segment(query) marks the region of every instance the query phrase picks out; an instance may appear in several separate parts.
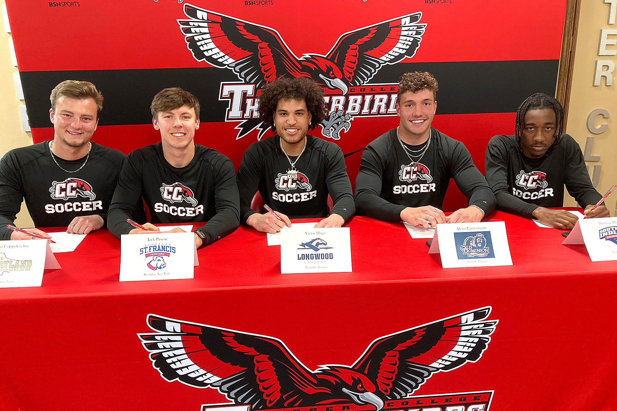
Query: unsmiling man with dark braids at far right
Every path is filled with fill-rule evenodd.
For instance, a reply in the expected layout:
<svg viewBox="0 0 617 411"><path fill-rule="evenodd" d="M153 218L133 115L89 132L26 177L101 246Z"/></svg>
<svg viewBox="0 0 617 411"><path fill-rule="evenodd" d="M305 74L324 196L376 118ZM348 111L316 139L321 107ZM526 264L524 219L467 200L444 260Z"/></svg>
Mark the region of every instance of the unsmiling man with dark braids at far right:
<svg viewBox="0 0 617 411"><path fill-rule="evenodd" d="M556 99L536 93L516 112L516 133L494 136L486 147L486 180L497 207L535 217L556 228L573 228L578 218L563 207L563 186L586 207L587 217L610 217L589 179L581 147L563 133L563 108Z"/></svg>

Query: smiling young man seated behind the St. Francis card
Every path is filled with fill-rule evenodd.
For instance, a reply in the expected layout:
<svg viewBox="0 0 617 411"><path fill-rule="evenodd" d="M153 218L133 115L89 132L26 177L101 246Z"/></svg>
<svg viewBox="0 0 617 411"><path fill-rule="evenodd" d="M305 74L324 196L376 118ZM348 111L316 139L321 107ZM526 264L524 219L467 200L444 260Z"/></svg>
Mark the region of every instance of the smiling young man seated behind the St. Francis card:
<svg viewBox="0 0 617 411"><path fill-rule="evenodd" d="M236 173L230 159L194 143L199 101L188 91L173 87L154 96L150 108L161 142L128 155L110 206L109 231L120 238L159 231L152 223L207 221L194 230L197 247L228 235L238 228L239 221ZM131 212L141 207L142 199L152 222L144 224L147 230L126 222ZM170 232L181 231L175 228Z"/></svg>

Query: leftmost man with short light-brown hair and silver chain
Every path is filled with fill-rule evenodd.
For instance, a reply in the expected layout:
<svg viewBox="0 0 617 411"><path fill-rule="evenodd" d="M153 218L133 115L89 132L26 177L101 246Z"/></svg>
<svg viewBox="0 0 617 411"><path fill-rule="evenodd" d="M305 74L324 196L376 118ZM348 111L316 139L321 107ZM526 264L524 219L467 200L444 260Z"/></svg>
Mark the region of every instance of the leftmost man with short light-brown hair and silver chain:
<svg viewBox="0 0 617 411"><path fill-rule="evenodd" d="M23 199L37 227L88 234L105 224L125 155L90 141L103 97L88 81L66 80L50 100L54 139L11 150L0 161L0 239L31 238L6 228Z"/></svg>

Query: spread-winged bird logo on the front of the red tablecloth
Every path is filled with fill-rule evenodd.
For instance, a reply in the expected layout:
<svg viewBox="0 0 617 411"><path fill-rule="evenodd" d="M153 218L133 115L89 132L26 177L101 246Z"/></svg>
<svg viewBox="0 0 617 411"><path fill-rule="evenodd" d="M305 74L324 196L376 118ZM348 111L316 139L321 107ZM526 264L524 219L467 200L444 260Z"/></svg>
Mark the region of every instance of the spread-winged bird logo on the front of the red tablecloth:
<svg viewBox="0 0 617 411"><path fill-rule="evenodd" d="M400 399L410 401L408 396L433 375L481 358L498 323L482 321L490 312L491 307L483 307L377 336L353 365L322 365L316 370L306 367L283 341L267 335L149 314L146 323L155 332L138 336L162 378L218 389L231 406L246 405L245 411L312 406L339 411L358 405L394 410L402 405ZM467 397L456 400L471 402ZM426 404L421 399L412 401ZM439 403L435 401L431 404ZM478 396L476 401L484 401L486 408L473 410L488 409L489 399Z"/></svg>

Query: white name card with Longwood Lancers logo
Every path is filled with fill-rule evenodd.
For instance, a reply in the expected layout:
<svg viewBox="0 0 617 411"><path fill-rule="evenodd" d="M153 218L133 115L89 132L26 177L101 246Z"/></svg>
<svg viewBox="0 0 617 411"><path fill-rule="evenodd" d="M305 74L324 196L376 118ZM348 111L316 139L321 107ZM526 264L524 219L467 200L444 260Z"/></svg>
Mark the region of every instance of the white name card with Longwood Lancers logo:
<svg viewBox="0 0 617 411"><path fill-rule="evenodd" d="M351 272L349 227L281 230L281 273Z"/></svg>

